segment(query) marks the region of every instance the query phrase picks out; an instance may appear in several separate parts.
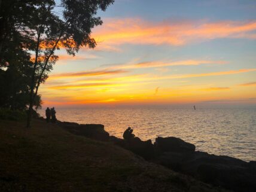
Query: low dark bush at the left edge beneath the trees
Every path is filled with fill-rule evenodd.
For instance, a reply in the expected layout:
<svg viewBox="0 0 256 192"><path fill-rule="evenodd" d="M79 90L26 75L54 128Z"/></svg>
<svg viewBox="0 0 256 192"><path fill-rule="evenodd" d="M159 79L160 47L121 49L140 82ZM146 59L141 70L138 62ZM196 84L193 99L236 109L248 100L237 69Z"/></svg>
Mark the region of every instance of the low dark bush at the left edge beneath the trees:
<svg viewBox="0 0 256 192"><path fill-rule="evenodd" d="M12 120L19 121L27 118L26 111L11 110L8 108L0 108L0 119L1 120Z"/></svg>

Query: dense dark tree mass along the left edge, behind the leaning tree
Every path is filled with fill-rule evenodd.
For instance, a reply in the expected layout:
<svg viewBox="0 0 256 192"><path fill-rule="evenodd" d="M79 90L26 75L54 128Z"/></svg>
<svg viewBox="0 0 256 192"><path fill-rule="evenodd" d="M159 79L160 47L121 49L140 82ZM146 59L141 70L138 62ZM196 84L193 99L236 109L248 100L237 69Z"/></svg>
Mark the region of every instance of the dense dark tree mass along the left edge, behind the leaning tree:
<svg viewBox="0 0 256 192"><path fill-rule="evenodd" d="M29 105L29 82L32 72L29 45L33 41L26 30L29 30L29 20L35 16L36 7L46 1L0 1L1 107L26 109ZM41 97L36 96L35 99L38 102L34 105L38 108Z"/></svg>

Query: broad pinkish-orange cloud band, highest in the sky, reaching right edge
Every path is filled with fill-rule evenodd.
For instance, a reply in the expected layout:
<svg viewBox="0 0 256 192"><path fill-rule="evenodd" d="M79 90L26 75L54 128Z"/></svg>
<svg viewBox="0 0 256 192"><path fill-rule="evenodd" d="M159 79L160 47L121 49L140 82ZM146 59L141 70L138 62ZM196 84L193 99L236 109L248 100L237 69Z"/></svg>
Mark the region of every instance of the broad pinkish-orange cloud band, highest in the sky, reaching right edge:
<svg viewBox="0 0 256 192"><path fill-rule="evenodd" d="M216 38L255 39L256 21L178 21L147 22L142 19L106 19L97 27L93 37L106 46L120 44L170 44L183 45L192 41Z"/></svg>

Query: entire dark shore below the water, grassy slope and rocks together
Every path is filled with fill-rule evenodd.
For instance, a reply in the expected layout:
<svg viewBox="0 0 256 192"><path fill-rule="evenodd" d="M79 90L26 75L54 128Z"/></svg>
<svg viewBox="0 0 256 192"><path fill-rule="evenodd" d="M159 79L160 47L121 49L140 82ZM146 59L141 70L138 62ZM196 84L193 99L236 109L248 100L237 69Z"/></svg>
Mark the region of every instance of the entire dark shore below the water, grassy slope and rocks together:
<svg viewBox="0 0 256 192"><path fill-rule="evenodd" d="M47 123L42 117L34 119L30 129L25 128L21 121L9 120L0 121L0 127L0 163L4 167L0 172L0 189L3 191L20 191L10 188L23 185L25 189L34 185L44 189L23 190L27 192L66 191L46 189L38 184L41 179L44 180L42 184L47 183L50 187L56 185L56 181L60 188L67 184L83 187L83 190L68 191L84 191L84 187L86 191L100 192L139 192L145 191L145 188L150 192L254 192L256 189L256 161L248 163L196 151L195 145L179 138L158 137L154 144L137 137L124 140L109 136L102 124L65 121L53 124ZM148 173L149 167L153 172ZM62 172L65 176L62 176ZM143 176L138 178L138 174ZM150 174L149 178L147 174ZM163 176L166 174L170 176ZM99 190L88 190L89 183L84 182L84 177L92 181L92 176L95 178L92 187ZM130 181L127 178L133 178L132 184L126 185L129 189L116 187L120 179L121 183L127 184ZM103 190L106 184L111 184L111 190ZM173 187L176 190L170 190Z"/></svg>

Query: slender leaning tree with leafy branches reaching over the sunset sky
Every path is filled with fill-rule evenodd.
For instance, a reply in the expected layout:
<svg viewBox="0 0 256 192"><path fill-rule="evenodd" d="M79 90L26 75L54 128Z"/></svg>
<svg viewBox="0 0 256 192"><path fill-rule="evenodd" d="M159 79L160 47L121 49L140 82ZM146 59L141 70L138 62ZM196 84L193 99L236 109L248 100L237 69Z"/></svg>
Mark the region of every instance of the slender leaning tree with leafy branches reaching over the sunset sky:
<svg viewBox="0 0 256 192"><path fill-rule="evenodd" d="M97 10L106 10L114 0L62 0L63 18L53 13L55 3L48 1L38 6L36 17L28 25L27 34L33 39L30 50L35 53L30 85L30 102L27 127L31 125L33 102L41 83L53 68L58 57L55 51L65 48L75 56L81 47L94 48L95 39L91 38L92 28L102 25Z"/></svg>

